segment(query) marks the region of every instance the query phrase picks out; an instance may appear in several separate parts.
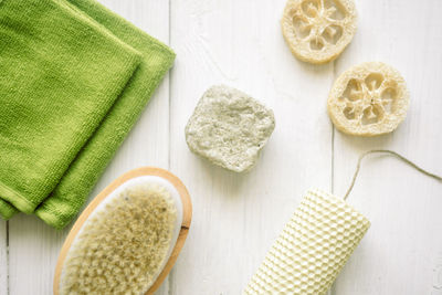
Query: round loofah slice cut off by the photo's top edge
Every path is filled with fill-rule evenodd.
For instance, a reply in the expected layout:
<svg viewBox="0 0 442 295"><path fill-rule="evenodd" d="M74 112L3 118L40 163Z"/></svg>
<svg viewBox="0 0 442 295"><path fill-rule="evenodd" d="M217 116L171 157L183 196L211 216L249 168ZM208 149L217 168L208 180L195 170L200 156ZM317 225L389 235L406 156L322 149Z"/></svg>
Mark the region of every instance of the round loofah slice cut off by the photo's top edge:
<svg viewBox="0 0 442 295"><path fill-rule="evenodd" d="M283 35L299 60L320 64L336 59L356 33L354 0L288 0Z"/></svg>

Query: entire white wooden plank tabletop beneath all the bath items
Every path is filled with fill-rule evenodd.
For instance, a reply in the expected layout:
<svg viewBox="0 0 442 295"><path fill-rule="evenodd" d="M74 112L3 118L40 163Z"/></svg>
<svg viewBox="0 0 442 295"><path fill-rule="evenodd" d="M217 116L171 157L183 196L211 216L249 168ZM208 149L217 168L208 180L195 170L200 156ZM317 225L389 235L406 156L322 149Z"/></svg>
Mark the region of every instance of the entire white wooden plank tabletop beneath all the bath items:
<svg viewBox="0 0 442 295"><path fill-rule="evenodd" d="M171 170L188 187L193 221L158 294L240 294L312 187L341 196L358 155L399 151L442 175L442 1L356 0L358 32L335 62L295 60L281 34L285 0L106 0L177 52L177 61L91 198L139 166ZM391 135L345 136L326 113L347 67L383 61L406 77L411 104ZM201 94L229 84L275 112L276 128L246 175L192 155L185 125ZM442 294L442 185L390 157L362 166L349 202L372 222L332 294ZM51 294L57 232L34 217L0 221L0 294Z"/></svg>

